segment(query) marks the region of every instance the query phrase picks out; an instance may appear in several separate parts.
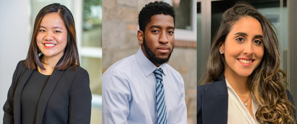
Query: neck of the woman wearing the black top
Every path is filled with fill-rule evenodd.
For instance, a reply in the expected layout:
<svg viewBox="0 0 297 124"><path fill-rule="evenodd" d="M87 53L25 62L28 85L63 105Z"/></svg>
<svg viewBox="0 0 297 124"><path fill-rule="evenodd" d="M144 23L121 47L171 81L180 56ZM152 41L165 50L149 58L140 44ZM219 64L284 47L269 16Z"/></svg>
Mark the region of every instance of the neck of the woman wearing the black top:
<svg viewBox="0 0 297 124"><path fill-rule="evenodd" d="M48 57L44 55L42 57L42 65L45 70L38 68L38 71L44 75L51 75L61 57L62 56Z"/></svg>

